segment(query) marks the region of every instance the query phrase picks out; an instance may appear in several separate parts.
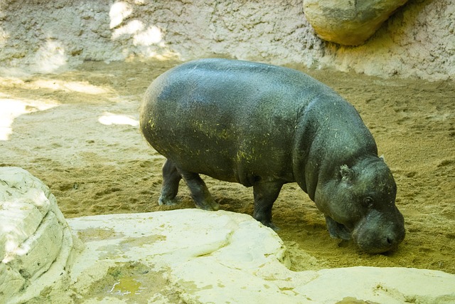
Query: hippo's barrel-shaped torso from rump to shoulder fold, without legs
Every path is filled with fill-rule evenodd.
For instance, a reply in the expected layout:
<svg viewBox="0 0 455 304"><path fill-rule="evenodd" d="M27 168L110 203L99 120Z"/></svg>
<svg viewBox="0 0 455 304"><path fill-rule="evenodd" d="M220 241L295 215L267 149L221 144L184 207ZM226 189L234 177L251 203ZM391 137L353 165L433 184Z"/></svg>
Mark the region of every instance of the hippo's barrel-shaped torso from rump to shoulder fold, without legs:
<svg viewBox="0 0 455 304"><path fill-rule="evenodd" d="M177 167L245 186L294 182L297 125L314 98L342 100L297 70L203 59L168 70L149 86L141 130Z"/></svg>

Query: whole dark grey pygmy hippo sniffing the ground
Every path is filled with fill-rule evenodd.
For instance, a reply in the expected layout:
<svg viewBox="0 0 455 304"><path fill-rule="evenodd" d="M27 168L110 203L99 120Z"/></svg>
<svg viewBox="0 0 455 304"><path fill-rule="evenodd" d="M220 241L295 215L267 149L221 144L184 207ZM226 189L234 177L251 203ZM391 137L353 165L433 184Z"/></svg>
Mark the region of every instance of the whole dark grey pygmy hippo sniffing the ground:
<svg viewBox="0 0 455 304"><path fill-rule="evenodd" d="M297 182L332 237L368 253L405 238L397 187L352 105L297 70L203 59L168 70L146 91L146 140L167 158L159 204L183 179L200 209L218 210L199 174L253 187L253 216L272 228L283 184Z"/></svg>

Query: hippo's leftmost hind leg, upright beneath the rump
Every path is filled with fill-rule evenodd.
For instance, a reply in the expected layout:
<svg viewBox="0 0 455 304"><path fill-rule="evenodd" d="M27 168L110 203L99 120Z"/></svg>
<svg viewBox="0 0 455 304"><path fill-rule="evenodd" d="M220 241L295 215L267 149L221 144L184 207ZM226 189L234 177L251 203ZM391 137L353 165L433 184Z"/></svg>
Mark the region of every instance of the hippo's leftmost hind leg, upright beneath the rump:
<svg viewBox="0 0 455 304"><path fill-rule="evenodd" d="M176 166L169 159L166 159L163 165L163 187L161 188L161 196L159 196L158 204L177 204L178 183L181 179L182 176Z"/></svg>

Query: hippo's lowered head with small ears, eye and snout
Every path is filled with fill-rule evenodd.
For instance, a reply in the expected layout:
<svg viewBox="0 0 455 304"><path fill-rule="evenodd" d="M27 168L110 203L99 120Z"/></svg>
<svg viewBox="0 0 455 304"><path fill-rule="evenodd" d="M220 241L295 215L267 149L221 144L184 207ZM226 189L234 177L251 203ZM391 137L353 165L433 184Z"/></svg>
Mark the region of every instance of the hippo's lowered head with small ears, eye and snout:
<svg viewBox="0 0 455 304"><path fill-rule="evenodd" d="M396 248L405 239L405 221L395 206L397 186L385 162L367 157L352 167L338 167L334 175L318 184L315 195L331 236L352 238L367 253Z"/></svg>

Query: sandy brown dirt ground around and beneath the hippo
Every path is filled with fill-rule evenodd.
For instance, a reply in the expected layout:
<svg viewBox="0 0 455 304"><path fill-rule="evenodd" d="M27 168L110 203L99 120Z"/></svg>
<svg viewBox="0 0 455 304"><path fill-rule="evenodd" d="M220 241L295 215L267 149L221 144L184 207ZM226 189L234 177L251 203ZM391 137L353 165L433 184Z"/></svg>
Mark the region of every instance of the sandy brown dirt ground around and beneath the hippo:
<svg viewBox="0 0 455 304"><path fill-rule="evenodd" d="M87 62L58 75L1 77L0 166L23 167L43 180L67 218L194 208L183 185L181 204L157 204L164 158L137 125L144 91L173 65ZM273 214L292 269L403 266L455 273L455 83L307 73L353 103L373 132L397 182L407 235L392 253L360 253L353 243L331 239L314 203L287 184ZM205 181L221 209L252 214L251 188Z"/></svg>

